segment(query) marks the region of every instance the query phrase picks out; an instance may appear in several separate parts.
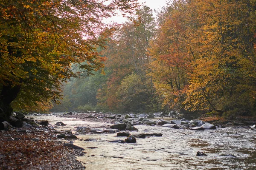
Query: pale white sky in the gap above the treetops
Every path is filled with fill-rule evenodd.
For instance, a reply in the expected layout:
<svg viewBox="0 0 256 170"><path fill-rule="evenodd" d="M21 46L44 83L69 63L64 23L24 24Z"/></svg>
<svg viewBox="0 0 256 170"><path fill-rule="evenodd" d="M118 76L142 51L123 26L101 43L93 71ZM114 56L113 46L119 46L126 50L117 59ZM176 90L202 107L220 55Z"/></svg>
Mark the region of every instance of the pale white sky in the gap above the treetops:
<svg viewBox="0 0 256 170"><path fill-rule="evenodd" d="M166 0L138 0L138 1L139 3L151 8L153 10L154 17L155 17L154 10L158 11L163 6L166 6ZM125 18L122 17L121 14L117 14L116 16L106 20L107 23L111 23L111 22L124 23L125 21L126 21Z"/></svg>

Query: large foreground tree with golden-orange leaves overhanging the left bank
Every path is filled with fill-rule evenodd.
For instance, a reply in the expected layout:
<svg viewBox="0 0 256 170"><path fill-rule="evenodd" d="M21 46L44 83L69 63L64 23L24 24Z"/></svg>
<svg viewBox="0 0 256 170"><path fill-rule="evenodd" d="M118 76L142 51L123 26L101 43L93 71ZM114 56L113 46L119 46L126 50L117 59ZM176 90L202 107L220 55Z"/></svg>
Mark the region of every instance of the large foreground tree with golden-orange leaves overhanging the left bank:
<svg viewBox="0 0 256 170"><path fill-rule="evenodd" d="M111 29L102 18L115 9L132 12L137 5L136 0L108 5L103 0L0 0L0 117L9 117L20 91L30 93L20 98L56 101L61 83L103 67L105 58L96 47Z"/></svg>

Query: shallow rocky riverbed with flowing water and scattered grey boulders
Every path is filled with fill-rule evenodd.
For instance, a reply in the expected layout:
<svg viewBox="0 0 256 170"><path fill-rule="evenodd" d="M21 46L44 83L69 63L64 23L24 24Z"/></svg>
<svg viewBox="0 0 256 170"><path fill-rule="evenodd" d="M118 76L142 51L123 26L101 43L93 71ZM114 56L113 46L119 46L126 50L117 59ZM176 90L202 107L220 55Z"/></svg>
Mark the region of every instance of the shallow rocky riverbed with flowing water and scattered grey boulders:
<svg viewBox="0 0 256 170"><path fill-rule="evenodd" d="M42 143L52 142L49 146L59 144L72 153L69 155L78 156L77 159L84 165L83 168L89 170L256 168L256 130L253 124L218 126L201 120L170 119L161 117L159 113L151 116L95 112L55 113L34 114L26 116L26 119L37 120L35 122L38 124L34 125L33 132L29 132L36 136L23 137L26 142L36 142L32 140L35 139L44 141ZM48 122L41 125L43 121ZM11 128L15 133L18 133L17 130ZM4 136L2 142L19 141L14 138L17 134L0 132L0 135ZM36 143L35 146L41 147ZM8 165L3 159L8 155L6 152L8 151L0 152L0 161L5 164L6 169L12 169L8 166L14 164ZM20 150L16 150L12 155L20 154L19 152ZM40 151L38 154L44 152ZM47 157L48 160L61 158L61 153L54 156L53 153ZM26 169L22 165L33 162L31 158L23 158L24 160L29 160L30 163L23 162L20 164L21 168L14 169ZM65 161L68 164L75 162L71 158ZM63 163L63 159L59 162ZM42 164L41 167L44 166L47 167L47 164ZM83 169L79 166L74 166L74 169ZM52 169L56 169L55 166L52 166Z"/></svg>

